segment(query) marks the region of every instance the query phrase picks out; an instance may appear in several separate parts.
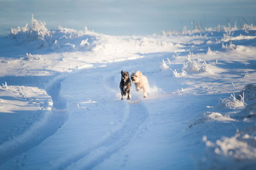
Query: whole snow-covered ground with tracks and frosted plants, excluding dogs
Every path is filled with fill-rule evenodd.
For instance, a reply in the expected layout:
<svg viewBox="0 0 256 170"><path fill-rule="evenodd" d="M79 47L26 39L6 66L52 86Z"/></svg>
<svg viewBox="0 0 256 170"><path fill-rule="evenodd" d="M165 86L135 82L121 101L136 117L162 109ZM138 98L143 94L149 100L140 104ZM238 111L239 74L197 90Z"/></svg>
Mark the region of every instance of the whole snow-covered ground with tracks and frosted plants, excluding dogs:
<svg viewBox="0 0 256 170"><path fill-rule="evenodd" d="M0 37L0 169L254 169L256 27ZM121 100L120 71L148 77ZM2 84L3 83L3 84Z"/></svg>

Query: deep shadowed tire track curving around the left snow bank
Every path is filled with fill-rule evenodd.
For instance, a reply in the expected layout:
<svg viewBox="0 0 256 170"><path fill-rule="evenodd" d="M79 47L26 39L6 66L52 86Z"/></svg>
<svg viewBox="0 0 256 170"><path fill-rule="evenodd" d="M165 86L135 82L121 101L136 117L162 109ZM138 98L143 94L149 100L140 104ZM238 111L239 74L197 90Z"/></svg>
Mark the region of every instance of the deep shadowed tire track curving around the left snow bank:
<svg viewBox="0 0 256 170"><path fill-rule="evenodd" d="M12 159L12 157L39 145L66 122L65 101L59 96L61 81L60 79L55 80L47 91L52 97L54 107L52 111L45 112L44 118L39 122L35 122L28 131L17 136L12 141L6 141L0 145L0 165Z"/></svg>

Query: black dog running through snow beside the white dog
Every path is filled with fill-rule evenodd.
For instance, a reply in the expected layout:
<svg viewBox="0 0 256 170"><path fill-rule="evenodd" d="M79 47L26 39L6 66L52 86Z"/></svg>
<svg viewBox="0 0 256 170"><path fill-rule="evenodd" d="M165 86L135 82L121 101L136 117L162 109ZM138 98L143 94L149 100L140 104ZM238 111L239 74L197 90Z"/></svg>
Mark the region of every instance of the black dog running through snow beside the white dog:
<svg viewBox="0 0 256 170"><path fill-rule="evenodd" d="M121 95L122 99L123 96L126 96L128 94L127 99L130 99L130 89L131 89L131 80L129 78L129 73L127 71L121 71L122 74L122 79L120 81L120 90L121 90Z"/></svg>

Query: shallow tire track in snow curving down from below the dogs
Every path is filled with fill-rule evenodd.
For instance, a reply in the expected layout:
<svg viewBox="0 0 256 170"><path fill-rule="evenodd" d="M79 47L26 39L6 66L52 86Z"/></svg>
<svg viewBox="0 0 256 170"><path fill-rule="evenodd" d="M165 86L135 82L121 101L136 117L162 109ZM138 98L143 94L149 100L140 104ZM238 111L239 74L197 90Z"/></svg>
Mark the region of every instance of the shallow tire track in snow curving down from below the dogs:
<svg viewBox="0 0 256 170"><path fill-rule="evenodd" d="M148 118L148 111L142 103L129 104L129 117L122 129L114 132L97 148L85 155L76 164L70 165L67 169L92 169L105 159L108 159L121 148L128 145L134 138L138 128Z"/></svg>

